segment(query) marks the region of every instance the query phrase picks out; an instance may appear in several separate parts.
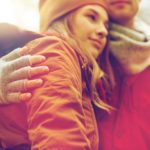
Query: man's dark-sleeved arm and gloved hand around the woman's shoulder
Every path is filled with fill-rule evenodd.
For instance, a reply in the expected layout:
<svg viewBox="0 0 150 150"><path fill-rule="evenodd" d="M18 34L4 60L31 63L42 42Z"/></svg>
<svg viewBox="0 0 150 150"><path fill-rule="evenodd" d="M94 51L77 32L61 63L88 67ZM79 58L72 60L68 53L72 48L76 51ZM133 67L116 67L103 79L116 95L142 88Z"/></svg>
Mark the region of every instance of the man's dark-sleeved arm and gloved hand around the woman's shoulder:
<svg viewBox="0 0 150 150"><path fill-rule="evenodd" d="M23 56L26 48L16 49L41 36L11 24L0 24L0 104L27 100L31 97L31 91L42 85L41 79L30 78L48 72L46 66L34 67L45 57Z"/></svg>

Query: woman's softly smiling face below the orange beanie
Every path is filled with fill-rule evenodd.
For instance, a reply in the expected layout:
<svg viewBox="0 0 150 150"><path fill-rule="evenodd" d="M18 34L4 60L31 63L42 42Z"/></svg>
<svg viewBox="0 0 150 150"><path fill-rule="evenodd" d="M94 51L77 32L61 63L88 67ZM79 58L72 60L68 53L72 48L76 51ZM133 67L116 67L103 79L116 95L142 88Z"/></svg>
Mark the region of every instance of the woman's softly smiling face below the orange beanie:
<svg viewBox="0 0 150 150"><path fill-rule="evenodd" d="M80 44L86 45L97 58L103 51L108 35L108 15L99 5L86 5L73 14L72 32Z"/></svg>

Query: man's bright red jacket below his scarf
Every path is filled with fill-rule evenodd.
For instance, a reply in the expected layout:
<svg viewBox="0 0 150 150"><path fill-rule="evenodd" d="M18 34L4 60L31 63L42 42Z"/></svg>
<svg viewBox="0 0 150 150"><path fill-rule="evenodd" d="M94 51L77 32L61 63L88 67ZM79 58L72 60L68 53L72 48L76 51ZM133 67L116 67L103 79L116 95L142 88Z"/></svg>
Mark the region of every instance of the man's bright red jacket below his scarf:
<svg viewBox="0 0 150 150"><path fill-rule="evenodd" d="M150 68L119 80L110 103L117 110L100 118L96 109L99 150L149 150Z"/></svg>

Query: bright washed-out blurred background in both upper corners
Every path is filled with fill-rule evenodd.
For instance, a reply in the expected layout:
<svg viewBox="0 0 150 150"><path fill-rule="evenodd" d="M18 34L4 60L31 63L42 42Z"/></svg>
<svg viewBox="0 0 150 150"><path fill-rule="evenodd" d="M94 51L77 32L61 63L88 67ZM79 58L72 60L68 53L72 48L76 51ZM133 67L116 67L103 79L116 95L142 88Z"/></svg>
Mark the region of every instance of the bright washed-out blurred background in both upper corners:
<svg viewBox="0 0 150 150"><path fill-rule="evenodd" d="M0 0L0 22L38 31L38 0ZM150 0L141 0L139 16L150 25Z"/></svg>

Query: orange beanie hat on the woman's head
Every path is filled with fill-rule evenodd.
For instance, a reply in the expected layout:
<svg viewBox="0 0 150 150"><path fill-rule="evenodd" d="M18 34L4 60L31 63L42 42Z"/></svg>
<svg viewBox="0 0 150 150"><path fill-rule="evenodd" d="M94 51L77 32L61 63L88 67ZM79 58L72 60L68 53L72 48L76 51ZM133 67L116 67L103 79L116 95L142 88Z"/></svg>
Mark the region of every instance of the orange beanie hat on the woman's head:
<svg viewBox="0 0 150 150"><path fill-rule="evenodd" d="M97 4L106 9L106 0L40 0L40 30L48 29L48 26L59 17L88 4Z"/></svg>

